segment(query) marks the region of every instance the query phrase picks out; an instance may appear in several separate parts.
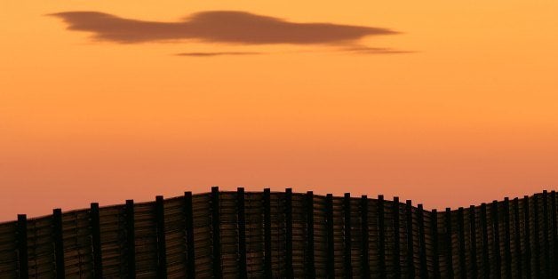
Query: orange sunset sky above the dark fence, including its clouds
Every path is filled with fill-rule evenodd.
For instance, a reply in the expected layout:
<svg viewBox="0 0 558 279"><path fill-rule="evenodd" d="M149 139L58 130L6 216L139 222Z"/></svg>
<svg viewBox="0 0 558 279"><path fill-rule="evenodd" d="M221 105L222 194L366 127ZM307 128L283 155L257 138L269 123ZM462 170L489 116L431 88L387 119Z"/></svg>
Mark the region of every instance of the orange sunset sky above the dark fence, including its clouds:
<svg viewBox="0 0 558 279"><path fill-rule="evenodd" d="M0 220L184 191L558 189L555 1L2 1Z"/></svg>

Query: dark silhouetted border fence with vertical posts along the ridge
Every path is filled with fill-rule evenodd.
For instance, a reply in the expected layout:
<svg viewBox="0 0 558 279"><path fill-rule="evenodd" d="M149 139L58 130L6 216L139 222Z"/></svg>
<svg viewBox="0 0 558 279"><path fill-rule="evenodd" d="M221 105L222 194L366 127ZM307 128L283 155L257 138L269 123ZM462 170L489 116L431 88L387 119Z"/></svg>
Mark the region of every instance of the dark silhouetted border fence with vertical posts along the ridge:
<svg viewBox="0 0 558 279"><path fill-rule="evenodd" d="M558 278L555 191L421 204L219 192L0 224L2 278Z"/></svg>

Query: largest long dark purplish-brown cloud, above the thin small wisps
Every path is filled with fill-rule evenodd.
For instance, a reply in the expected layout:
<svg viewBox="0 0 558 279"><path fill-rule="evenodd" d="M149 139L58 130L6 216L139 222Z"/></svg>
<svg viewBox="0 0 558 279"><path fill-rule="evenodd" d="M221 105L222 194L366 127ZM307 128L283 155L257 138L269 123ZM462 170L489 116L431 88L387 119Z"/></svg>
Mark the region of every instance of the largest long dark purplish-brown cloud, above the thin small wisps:
<svg viewBox="0 0 558 279"><path fill-rule="evenodd" d="M68 29L123 44L195 39L229 44L351 44L364 36L393 35L387 28L296 23L249 12L198 12L178 22L130 20L102 12L53 13Z"/></svg>

